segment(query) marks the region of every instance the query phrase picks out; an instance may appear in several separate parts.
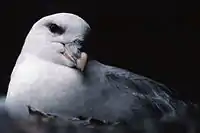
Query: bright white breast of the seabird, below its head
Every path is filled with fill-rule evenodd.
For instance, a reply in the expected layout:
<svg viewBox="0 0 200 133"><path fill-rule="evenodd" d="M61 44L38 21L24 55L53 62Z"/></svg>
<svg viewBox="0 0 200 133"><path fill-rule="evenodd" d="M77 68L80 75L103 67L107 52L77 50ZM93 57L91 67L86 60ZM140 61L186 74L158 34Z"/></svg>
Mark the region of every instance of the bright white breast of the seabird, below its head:
<svg viewBox="0 0 200 133"><path fill-rule="evenodd" d="M26 105L48 111L62 104L68 106L84 89L82 79L75 69L26 55L15 67L6 105L20 111Z"/></svg>

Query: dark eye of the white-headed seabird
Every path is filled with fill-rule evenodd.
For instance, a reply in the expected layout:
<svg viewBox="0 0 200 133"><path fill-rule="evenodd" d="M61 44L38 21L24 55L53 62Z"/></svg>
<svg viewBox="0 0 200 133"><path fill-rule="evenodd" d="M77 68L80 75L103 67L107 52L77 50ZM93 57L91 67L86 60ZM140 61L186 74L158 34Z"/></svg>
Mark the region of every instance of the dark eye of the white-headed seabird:
<svg viewBox="0 0 200 133"><path fill-rule="evenodd" d="M47 27L54 34L61 35L61 34L63 34L65 32L65 30L61 26L58 26L57 24L54 24L54 23L49 23L47 25Z"/></svg>

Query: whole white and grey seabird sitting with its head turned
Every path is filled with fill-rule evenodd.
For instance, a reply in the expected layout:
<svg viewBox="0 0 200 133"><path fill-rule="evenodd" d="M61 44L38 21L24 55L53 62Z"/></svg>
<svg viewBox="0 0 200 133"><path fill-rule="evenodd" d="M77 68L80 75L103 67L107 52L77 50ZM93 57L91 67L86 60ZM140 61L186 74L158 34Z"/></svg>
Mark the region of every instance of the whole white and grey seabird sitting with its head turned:
<svg viewBox="0 0 200 133"><path fill-rule="evenodd" d="M65 119L134 123L140 129L144 118L166 121L184 114L188 105L164 84L81 51L90 31L72 13L51 14L32 26L10 77L10 116L27 119L32 107Z"/></svg>

